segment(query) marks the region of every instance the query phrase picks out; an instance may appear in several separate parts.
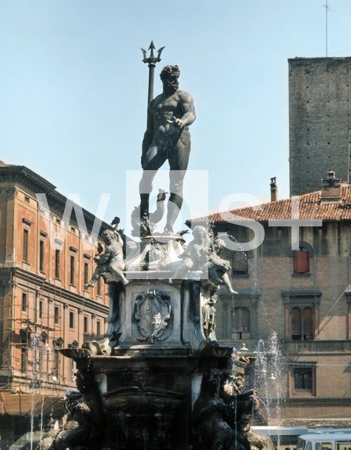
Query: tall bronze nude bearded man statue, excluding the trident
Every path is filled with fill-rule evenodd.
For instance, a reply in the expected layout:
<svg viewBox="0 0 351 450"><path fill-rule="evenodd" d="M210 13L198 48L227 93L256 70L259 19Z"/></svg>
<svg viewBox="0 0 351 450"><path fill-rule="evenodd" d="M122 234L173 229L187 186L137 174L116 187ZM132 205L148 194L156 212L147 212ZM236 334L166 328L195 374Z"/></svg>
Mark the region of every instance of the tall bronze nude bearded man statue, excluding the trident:
<svg viewBox="0 0 351 450"><path fill-rule="evenodd" d="M173 224L183 205L183 181L190 155L189 126L195 120L192 96L178 90L178 65L166 65L161 71L162 94L147 108L147 130L143 140L140 181L140 217L149 217L149 198L157 170L168 160L171 196L167 205L165 233L173 233Z"/></svg>

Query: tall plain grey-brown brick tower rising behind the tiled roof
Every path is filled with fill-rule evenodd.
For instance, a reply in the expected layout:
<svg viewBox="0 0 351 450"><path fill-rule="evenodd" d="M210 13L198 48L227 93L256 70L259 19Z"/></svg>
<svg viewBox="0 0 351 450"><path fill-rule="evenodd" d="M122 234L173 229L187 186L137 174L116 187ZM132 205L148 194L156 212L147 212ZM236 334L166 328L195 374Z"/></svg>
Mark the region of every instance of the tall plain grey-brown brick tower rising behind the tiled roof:
<svg viewBox="0 0 351 450"><path fill-rule="evenodd" d="M290 193L350 174L351 58L289 59Z"/></svg>

